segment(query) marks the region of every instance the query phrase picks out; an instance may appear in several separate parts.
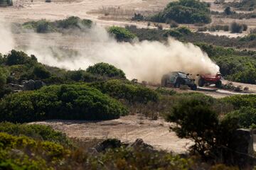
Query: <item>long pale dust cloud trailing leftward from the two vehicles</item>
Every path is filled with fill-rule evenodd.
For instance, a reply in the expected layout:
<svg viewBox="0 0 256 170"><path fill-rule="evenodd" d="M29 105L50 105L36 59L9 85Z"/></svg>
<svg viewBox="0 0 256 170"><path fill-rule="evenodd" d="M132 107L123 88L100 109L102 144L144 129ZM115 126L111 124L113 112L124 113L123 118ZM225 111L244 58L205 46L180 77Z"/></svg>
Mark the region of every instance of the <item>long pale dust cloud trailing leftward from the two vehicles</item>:
<svg viewBox="0 0 256 170"><path fill-rule="evenodd" d="M6 35L8 39L9 34ZM128 79L154 83L159 83L163 74L172 71L190 74L219 71L208 55L191 43L184 44L172 38L165 44L146 40L117 42L105 28L96 25L84 32L31 33L26 38L27 47L21 50L36 55L43 64L65 69L86 69L97 62L107 62L122 69ZM11 46L12 41L9 41ZM6 52L1 48L0 51Z"/></svg>

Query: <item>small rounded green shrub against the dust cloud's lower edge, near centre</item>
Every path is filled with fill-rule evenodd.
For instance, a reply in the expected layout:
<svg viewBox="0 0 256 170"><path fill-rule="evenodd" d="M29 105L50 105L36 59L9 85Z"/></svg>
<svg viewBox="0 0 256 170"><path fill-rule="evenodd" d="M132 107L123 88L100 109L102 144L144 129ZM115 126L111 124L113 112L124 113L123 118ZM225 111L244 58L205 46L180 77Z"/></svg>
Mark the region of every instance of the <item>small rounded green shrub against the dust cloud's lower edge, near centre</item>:
<svg viewBox="0 0 256 170"><path fill-rule="evenodd" d="M91 74L99 74L102 77L115 77L126 79L124 72L121 69L117 69L111 64L104 62L94 64L86 69L86 72Z"/></svg>

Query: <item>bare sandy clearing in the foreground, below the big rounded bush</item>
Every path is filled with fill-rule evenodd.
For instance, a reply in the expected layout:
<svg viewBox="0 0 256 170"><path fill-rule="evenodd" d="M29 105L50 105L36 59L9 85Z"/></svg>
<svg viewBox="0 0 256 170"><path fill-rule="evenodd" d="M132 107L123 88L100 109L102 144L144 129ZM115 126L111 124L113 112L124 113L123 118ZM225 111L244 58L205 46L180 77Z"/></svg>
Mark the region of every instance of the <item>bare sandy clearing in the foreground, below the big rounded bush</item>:
<svg viewBox="0 0 256 170"><path fill-rule="evenodd" d="M193 144L191 140L180 139L175 132L170 132L171 123L166 123L162 119L148 120L142 115L128 115L100 122L49 120L37 124L50 125L55 130L80 140L117 138L122 142L134 142L137 138L142 138L156 149L176 153L186 152Z"/></svg>

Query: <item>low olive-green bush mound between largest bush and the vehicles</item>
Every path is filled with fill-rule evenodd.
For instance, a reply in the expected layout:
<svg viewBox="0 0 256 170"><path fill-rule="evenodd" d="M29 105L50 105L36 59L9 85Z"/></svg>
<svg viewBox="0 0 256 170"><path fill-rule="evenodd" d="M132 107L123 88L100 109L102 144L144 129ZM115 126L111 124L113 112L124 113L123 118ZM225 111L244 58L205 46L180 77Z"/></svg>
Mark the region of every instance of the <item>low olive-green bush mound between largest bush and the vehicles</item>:
<svg viewBox="0 0 256 170"><path fill-rule="evenodd" d="M157 93L151 89L117 79L93 83L90 86L99 89L104 94L118 99L122 98L132 103L148 103L159 99Z"/></svg>

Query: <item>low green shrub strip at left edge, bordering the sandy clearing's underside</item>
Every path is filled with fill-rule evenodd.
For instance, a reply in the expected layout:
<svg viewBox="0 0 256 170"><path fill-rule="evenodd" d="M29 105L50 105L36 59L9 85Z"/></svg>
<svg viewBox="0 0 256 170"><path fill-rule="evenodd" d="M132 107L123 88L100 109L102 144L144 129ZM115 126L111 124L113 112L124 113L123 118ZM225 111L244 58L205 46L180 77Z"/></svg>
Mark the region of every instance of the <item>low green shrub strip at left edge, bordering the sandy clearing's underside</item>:
<svg viewBox="0 0 256 170"><path fill-rule="evenodd" d="M0 132L6 132L9 135L25 135L35 140L48 140L59 143L65 147L73 146L68 137L62 132L57 132L46 125L27 125L14 123L0 123Z"/></svg>

